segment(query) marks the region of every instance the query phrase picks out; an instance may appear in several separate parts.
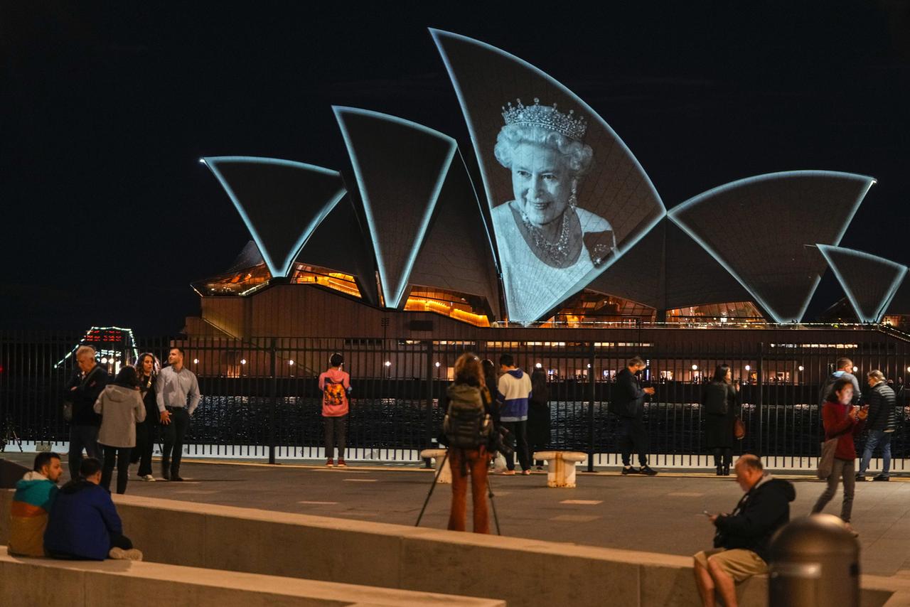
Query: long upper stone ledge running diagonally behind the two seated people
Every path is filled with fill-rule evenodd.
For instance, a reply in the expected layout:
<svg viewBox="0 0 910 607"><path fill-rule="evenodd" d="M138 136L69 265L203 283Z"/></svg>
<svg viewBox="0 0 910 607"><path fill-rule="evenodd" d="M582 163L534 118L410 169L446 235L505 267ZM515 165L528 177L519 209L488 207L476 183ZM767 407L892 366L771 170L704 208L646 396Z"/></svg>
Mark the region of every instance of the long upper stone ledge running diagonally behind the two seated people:
<svg viewBox="0 0 910 607"><path fill-rule="evenodd" d="M0 491L0 543L8 537L12 495ZM126 533L147 561L494 597L523 607L700 604L690 556L129 494L115 495L114 501ZM894 583L863 576L864 607L910 604L895 602ZM742 607L765 607L767 578L748 580L737 593Z"/></svg>

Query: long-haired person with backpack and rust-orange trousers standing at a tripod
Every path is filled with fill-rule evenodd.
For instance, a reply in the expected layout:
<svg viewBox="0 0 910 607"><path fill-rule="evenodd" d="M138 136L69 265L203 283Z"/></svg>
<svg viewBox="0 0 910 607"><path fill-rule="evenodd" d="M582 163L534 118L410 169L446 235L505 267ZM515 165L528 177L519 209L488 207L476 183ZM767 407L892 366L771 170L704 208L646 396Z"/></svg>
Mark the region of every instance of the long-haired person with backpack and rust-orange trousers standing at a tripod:
<svg viewBox="0 0 910 607"><path fill-rule="evenodd" d="M480 360L470 352L455 361L455 379L446 389L446 417L442 430L449 442L452 474L450 531L466 531L468 475L474 504L474 532L490 532L487 510L487 470L495 441L493 400L486 387Z"/></svg>

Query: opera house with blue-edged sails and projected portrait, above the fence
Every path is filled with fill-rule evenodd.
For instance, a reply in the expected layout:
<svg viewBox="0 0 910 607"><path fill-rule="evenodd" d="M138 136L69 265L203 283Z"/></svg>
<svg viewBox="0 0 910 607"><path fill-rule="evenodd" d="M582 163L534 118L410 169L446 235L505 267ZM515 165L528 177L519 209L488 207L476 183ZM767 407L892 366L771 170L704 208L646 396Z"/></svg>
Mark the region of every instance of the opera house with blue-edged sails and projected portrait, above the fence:
<svg viewBox="0 0 910 607"><path fill-rule="evenodd" d="M632 150L571 90L498 48L430 34L470 142L336 106L349 167L200 160L251 240L230 268L194 283L202 312L188 335L767 329L814 320L806 309L828 271L845 296L830 320L910 315L905 266L840 247L874 177L744 177L668 209Z"/></svg>

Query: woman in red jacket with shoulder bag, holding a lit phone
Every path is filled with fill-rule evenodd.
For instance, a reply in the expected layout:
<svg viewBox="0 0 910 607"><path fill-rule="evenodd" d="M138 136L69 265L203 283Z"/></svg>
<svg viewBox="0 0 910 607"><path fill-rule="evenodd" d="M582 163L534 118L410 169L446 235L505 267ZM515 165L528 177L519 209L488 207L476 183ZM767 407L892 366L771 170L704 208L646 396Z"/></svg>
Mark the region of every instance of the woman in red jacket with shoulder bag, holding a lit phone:
<svg viewBox="0 0 910 607"><path fill-rule="evenodd" d="M850 404L853 401L853 381L851 379L838 379L831 387L831 392L822 405L822 423L824 423L824 439L837 438L837 449L834 450L834 467L828 477L828 488L824 490L812 509L812 513L821 512L824 506L831 501L837 491L837 483L844 479L844 502L841 505L841 519L850 526L850 511L853 510L853 495L855 478L856 448L854 436L863 429L869 406L862 409Z"/></svg>

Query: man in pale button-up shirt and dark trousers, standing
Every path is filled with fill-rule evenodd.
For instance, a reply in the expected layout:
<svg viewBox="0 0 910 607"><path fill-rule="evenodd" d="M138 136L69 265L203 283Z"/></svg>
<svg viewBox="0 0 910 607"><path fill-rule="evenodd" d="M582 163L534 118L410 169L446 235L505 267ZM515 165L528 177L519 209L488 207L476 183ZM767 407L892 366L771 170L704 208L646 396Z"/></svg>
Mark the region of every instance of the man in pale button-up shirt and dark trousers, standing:
<svg viewBox="0 0 910 607"><path fill-rule="evenodd" d="M168 366L161 369L155 382L158 419L165 435L165 450L161 454L161 476L165 481L183 481L180 478L183 441L193 411L202 399L196 373L183 366L183 357L183 349L171 348L167 354Z"/></svg>

